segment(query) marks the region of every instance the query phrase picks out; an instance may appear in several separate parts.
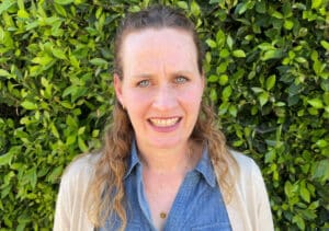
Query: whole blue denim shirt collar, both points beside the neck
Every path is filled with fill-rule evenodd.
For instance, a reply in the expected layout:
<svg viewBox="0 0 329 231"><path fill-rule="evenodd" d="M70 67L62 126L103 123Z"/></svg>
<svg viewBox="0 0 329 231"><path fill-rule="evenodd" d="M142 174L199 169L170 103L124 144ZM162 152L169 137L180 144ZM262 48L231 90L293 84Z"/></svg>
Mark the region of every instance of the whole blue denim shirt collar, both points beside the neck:
<svg viewBox="0 0 329 231"><path fill-rule="evenodd" d="M131 158L128 160L128 168L127 168L127 172L126 172L124 178L128 177L132 174L134 168L137 164L140 164L140 161L138 158L136 141L133 140L132 147L131 147ZM207 184L209 186L212 186L212 187L216 186L216 175L215 175L213 164L212 164L212 161L209 158L207 146L204 147L204 149L202 151L202 157L198 160L194 170L200 172L203 175L203 177L205 178L205 181L207 182Z"/></svg>

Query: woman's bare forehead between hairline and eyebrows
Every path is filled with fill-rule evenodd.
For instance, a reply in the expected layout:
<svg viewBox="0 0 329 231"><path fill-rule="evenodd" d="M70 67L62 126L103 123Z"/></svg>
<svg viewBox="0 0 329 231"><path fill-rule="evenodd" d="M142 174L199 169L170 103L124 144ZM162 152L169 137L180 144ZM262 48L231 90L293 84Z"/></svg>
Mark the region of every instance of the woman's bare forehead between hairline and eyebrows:
<svg viewBox="0 0 329 231"><path fill-rule="evenodd" d="M196 46L192 34L178 28L146 28L132 32L122 45L124 69L166 62L170 67L195 66ZM183 67L182 67L183 68Z"/></svg>

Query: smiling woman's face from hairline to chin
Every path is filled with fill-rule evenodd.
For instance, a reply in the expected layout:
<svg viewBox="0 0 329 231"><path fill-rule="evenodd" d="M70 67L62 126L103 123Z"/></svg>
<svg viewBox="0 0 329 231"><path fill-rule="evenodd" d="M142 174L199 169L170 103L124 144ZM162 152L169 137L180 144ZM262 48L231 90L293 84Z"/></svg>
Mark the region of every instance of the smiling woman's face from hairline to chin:
<svg viewBox="0 0 329 231"><path fill-rule="evenodd" d="M123 79L116 96L126 108L139 148L185 146L204 89L191 34L175 28L129 33L122 45Z"/></svg>

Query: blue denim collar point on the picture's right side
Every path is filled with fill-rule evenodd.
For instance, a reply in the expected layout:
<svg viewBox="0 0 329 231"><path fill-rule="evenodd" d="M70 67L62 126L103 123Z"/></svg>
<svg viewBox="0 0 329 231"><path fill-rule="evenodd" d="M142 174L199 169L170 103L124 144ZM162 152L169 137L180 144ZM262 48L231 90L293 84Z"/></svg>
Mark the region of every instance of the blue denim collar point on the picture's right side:
<svg viewBox="0 0 329 231"><path fill-rule="evenodd" d="M207 146L202 151L202 157L195 166L195 171L200 172L211 187L216 186L216 175L209 158Z"/></svg>

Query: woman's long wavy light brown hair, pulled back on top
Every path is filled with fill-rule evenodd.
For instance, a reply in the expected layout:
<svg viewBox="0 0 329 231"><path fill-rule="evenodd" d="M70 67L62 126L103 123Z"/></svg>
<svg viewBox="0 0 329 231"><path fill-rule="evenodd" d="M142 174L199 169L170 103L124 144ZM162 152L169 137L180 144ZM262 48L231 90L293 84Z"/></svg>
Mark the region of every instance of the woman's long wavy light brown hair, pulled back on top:
<svg viewBox="0 0 329 231"><path fill-rule="evenodd" d="M194 24L183 13L162 5L128 14L122 21L115 37L114 73L121 79L124 78L121 48L125 36L146 28L163 27L182 30L191 34L197 50L198 71L203 73L204 54ZM94 175L88 193L88 216L97 228L104 226L106 218L112 215L121 219L121 230L126 227L124 175L133 139L134 129L128 115L116 101L112 124L104 136L101 157L94 165ZM228 203L235 183L234 173L238 171L238 165L226 147L224 135L216 126L213 109L204 100L191 140L207 145L218 185Z"/></svg>

